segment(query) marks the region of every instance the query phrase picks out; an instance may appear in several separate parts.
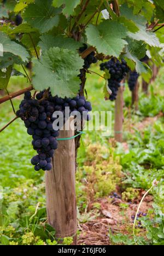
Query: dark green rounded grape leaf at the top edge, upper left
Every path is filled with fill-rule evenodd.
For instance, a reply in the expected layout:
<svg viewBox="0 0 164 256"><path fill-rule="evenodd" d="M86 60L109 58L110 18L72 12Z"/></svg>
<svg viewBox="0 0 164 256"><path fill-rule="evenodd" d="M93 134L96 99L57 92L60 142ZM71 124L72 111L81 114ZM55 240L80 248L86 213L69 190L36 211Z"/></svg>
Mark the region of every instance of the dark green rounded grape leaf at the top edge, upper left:
<svg viewBox="0 0 164 256"><path fill-rule="evenodd" d="M52 7L52 0L36 0L28 5L22 16L27 23L42 33L58 26L58 9Z"/></svg>

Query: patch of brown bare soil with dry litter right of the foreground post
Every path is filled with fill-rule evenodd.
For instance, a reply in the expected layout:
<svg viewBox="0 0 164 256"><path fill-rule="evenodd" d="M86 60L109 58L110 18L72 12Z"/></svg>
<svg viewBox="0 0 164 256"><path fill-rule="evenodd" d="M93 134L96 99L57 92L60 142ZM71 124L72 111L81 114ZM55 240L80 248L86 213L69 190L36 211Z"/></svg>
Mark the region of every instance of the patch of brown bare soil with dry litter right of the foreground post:
<svg viewBox="0 0 164 256"><path fill-rule="evenodd" d="M132 216L136 214L138 204L145 191L141 191L137 202L123 202L121 199L114 198L112 202L109 199L99 199L101 203L101 214L95 220L79 224L81 230L78 245L111 245L109 230L113 233L122 233L132 235L133 220ZM121 203L128 204L128 208L122 209ZM147 213L152 208L153 196L148 195L140 212ZM140 228L144 233L144 230Z"/></svg>

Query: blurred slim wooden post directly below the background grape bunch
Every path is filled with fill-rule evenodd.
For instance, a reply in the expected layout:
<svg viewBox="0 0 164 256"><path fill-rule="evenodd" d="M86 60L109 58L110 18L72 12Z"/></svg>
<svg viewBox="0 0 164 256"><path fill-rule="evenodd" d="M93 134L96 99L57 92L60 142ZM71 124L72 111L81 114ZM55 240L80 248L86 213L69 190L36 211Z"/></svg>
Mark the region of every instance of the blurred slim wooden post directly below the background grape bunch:
<svg viewBox="0 0 164 256"><path fill-rule="evenodd" d="M115 140L118 142L122 142L122 126L124 121L124 98L123 98L124 86L120 86L118 91L118 96L115 101L115 124L114 124L114 132L115 132Z"/></svg>

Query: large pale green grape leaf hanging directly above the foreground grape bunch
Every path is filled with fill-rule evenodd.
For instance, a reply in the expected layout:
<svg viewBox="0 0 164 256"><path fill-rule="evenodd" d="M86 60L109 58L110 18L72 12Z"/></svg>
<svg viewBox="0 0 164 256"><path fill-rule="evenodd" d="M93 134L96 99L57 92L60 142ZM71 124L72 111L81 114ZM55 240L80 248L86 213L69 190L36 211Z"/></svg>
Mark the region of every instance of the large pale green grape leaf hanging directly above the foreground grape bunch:
<svg viewBox="0 0 164 256"><path fill-rule="evenodd" d="M78 53L58 47L50 48L34 60L33 86L36 90L50 88L52 95L72 97L79 91L79 70L83 68L84 60Z"/></svg>

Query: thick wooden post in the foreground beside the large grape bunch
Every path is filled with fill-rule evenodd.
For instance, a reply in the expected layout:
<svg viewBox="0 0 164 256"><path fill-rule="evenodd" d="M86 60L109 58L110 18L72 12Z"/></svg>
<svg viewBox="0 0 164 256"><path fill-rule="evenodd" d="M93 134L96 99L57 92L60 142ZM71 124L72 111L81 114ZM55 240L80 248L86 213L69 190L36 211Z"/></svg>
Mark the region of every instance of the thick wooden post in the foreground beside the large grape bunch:
<svg viewBox="0 0 164 256"><path fill-rule="evenodd" d="M60 131L59 138L70 138L74 131ZM46 211L56 238L73 236L77 245L77 207L75 197L74 139L58 141L53 168L45 173Z"/></svg>

